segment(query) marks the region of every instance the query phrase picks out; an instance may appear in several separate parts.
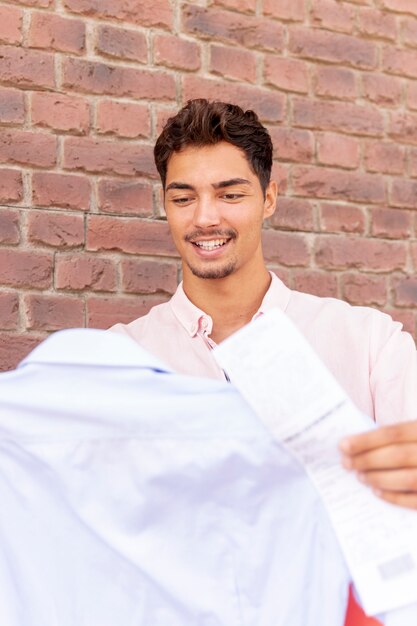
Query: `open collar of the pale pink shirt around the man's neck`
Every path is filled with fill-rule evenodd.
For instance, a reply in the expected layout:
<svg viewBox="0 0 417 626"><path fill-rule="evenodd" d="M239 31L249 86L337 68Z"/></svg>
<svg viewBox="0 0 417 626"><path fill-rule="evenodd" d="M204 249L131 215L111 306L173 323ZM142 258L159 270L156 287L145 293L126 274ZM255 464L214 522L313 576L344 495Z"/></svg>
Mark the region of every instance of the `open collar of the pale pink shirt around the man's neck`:
<svg viewBox="0 0 417 626"><path fill-rule="evenodd" d="M280 308L285 311L290 299L291 291L284 285L276 274L270 272L271 284L262 300L259 310L254 319L270 309ZM210 335L213 328L213 320L210 315L193 304L185 294L182 282L170 301L172 311L177 320L182 324L190 337L194 337L199 331Z"/></svg>

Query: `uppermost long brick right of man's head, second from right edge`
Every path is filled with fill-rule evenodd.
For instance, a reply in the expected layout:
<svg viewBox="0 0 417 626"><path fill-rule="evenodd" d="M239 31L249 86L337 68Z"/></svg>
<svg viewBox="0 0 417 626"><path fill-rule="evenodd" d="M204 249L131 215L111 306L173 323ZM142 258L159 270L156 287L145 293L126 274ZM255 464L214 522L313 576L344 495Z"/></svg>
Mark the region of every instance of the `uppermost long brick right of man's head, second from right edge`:
<svg viewBox="0 0 417 626"><path fill-rule="evenodd" d="M289 30L289 49L293 54L362 69L374 69L377 66L377 47L371 41L299 26L290 27Z"/></svg>

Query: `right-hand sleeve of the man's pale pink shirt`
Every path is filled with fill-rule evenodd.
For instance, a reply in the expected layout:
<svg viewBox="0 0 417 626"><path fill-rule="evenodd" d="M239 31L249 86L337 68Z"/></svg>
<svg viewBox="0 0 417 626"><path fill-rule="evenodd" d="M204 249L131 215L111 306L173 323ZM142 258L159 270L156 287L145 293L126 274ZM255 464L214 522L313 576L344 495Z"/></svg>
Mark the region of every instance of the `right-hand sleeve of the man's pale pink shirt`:
<svg viewBox="0 0 417 626"><path fill-rule="evenodd" d="M391 424L417 419L417 350L413 338L388 315L373 321L370 385L375 420Z"/></svg>

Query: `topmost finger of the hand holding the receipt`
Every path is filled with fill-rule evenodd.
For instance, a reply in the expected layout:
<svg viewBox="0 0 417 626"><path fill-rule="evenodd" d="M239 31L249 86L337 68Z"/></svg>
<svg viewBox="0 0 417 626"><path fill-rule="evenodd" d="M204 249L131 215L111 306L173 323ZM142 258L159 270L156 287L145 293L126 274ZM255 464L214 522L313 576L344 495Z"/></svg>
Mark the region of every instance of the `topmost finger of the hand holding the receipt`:
<svg viewBox="0 0 417 626"><path fill-rule="evenodd" d="M340 449L343 453L354 456L393 443L410 441L417 443L417 421L382 426L366 433L346 437L340 442Z"/></svg>

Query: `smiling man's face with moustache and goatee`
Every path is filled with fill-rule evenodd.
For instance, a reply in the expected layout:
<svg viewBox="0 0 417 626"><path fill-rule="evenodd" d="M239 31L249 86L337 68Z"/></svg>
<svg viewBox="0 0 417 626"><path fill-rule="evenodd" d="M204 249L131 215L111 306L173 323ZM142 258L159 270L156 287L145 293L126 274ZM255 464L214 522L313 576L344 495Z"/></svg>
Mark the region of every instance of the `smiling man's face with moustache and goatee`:
<svg viewBox="0 0 417 626"><path fill-rule="evenodd" d="M174 153L167 169L165 210L188 271L225 278L262 261L263 220L275 209L276 186L264 198L259 179L236 146L220 142Z"/></svg>

